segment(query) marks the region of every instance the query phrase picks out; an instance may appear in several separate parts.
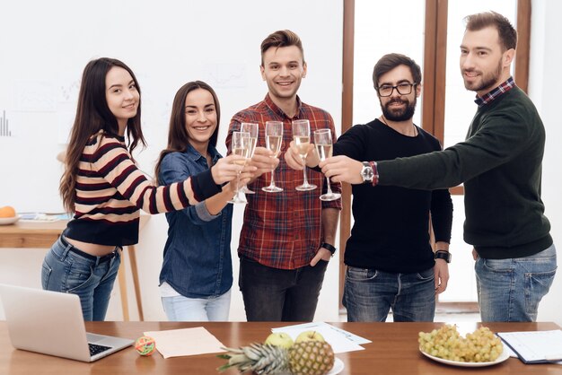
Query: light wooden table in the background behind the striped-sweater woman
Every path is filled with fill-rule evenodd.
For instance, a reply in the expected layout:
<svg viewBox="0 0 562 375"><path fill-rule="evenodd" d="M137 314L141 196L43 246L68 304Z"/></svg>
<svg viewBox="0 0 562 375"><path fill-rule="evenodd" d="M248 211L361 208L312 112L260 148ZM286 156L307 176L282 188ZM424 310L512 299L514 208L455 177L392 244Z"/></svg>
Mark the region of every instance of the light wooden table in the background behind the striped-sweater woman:
<svg viewBox="0 0 562 375"><path fill-rule="evenodd" d="M141 214L139 228L142 229L150 215ZM58 239L60 233L65 230L66 220L57 222L15 222L12 225L0 225L0 249L50 249L53 243ZM140 230L139 229L139 230ZM127 246L127 251L123 252L123 256L127 253L131 266L131 275L133 276L133 286L136 294L136 309L138 311L139 320L144 320L143 305L141 300L140 286L138 283L138 271L136 267L136 249L134 246ZM125 274L125 264L122 261L119 269L119 291L121 294L121 309L123 310L123 319L129 319L128 299L127 299L127 281Z"/></svg>

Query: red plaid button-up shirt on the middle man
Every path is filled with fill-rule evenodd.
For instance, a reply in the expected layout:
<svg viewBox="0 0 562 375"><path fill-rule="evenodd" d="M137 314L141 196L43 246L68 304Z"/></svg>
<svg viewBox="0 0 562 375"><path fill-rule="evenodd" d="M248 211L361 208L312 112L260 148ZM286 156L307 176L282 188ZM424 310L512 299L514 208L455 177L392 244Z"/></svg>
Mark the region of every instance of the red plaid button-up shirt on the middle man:
<svg viewBox="0 0 562 375"><path fill-rule="evenodd" d="M242 122L259 124L258 146L265 147L266 121L283 121L283 144L279 154L279 166L275 170L275 182L283 191L267 193L261 188L271 181L271 173L264 173L249 185L256 194L246 196L248 205L244 211L244 222L240 235L238 254L249 257L259 264L281 269L295 269L307 266L321 247L321 210L322 208L341 209L341 199L322 202L321 192L326 179L317 171L307 169L310 183L318 186L310 191L297 191L295 188L303 183L303 171L293 170L283 158L287 147L293 140L292 121L308 119L312 132L329 128L336 142L334 120L328 112L304 104L298 97L298 112L294 118L285 113L266 95L266 99L234 115L226 147L230 153L230 144L234 131L240 130ZM340 192L339 184L331 184L334 192Z"/></svg>

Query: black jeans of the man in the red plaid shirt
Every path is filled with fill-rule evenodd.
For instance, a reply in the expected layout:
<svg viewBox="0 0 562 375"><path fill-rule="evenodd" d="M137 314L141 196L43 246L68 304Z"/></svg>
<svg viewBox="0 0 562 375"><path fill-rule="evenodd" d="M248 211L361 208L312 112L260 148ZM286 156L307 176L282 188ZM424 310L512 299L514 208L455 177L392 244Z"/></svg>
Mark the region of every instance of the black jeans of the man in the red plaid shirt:
<svg viewBox="0 0 562 375"><path fill-rule="evenodd" d="M248 321L304 321L314 318L328 262L297 269L262 266L241 257L238 284Z"/></svg>

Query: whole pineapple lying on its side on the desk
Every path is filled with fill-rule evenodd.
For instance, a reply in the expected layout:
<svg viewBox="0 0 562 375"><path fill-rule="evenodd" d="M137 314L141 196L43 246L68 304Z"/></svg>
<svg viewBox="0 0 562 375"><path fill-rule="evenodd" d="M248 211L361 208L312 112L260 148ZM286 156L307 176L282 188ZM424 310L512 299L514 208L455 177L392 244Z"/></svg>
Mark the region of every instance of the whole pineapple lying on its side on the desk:
<svg viewBox="0 0 562 375"><path fill-rule="evenodd" d="M250 344L239 349L224 348L228 353L218 355L228 360L219 367L224 371L236 367L240 372L254 371L259 375L291 371L299 375L324 375L334 366L334 351L328 343L306 341L294 344L290 349L269 344Z"/></svg>

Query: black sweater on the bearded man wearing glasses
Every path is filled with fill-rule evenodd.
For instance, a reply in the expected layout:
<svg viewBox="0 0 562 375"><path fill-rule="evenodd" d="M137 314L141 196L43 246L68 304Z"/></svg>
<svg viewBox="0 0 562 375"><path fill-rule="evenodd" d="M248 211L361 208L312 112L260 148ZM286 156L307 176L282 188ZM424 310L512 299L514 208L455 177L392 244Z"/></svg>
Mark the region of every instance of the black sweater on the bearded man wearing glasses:
<svg viewBox="0 0 562 375"><path fill-rule="evenodd" d="M392 160L441 150L439 141L423 129L401 135L375 119L356 125L334 144L334 155L357 161ZM452 200L447 189L353 186L354 224L347 240L347 266L376 268L393 273L423 271L435 265L429 244L431 212L435 240L449 242Z"/></svg>

